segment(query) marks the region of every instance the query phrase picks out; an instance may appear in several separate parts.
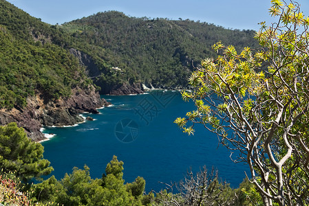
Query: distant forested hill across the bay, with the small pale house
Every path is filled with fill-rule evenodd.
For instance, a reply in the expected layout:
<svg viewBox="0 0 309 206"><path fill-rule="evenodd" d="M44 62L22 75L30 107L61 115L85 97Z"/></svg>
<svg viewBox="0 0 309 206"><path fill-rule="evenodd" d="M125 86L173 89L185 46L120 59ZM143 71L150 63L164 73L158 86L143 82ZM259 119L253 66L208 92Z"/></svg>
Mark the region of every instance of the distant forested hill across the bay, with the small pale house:
<svg viewBox="0 0 309 206"><path fill-rule="evenodd" d="M143 82L154 87L186 87L193 66L216 56L211 45L222 41L238 50L257 47L254 31L226 30L209 23L128 17L99 12L59 26L69 45L92 56L102 72L95 82L105 87ZM115 72L112 67L119 67ZM104 93L104 92L103 92Z"/></svg>

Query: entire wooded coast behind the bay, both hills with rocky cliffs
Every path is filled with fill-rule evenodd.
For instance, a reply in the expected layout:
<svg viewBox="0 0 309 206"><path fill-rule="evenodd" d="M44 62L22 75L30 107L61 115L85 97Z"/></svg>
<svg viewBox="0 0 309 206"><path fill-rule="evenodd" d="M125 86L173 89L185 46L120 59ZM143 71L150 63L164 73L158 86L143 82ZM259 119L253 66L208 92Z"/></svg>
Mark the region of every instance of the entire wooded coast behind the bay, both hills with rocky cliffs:
<svg viewBox="0 0 309 206"><path fill-rule="evenodd" d="M257 47L254 33L115 11L49 25L0 0L0 124L18 122L38 141L41 126L76 124L106 105L97 91L186 88L202 58L216 56L211 45Z"/></svg>

